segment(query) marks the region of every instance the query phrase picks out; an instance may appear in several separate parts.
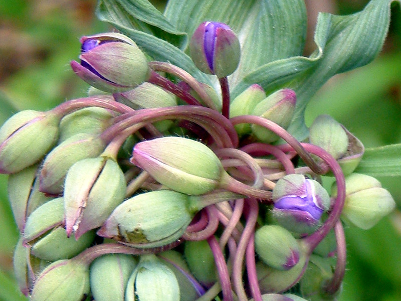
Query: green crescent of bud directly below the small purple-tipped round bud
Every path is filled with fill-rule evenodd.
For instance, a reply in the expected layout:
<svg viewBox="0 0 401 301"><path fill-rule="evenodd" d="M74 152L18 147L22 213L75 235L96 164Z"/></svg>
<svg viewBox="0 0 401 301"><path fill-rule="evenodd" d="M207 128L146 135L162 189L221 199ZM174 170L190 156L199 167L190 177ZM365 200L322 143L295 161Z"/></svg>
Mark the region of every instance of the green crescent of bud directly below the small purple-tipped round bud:
<svg viewBox="0 0 401 301"><path fill-rule="evenodd" d="M301 252L298 263L289 270L278 270L264 264L262 261L256 263L259 286L262 293L283 292L294 286L306 267L306 254Z"/></svg>

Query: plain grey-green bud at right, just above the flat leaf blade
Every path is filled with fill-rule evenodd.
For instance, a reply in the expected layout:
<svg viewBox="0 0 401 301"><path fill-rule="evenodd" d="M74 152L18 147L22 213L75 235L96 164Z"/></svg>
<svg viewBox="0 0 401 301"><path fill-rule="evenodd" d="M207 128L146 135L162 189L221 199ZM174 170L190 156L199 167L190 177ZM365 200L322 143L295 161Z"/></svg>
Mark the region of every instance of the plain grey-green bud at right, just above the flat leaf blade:
<svg viewBox="0 0 401 301"><path fill-rule="evenodd" d="M313 121L309 128L309 140L326 150L334 159L343 157L348 147L347 133L341 124L329 115L320 115Z"/></svg>

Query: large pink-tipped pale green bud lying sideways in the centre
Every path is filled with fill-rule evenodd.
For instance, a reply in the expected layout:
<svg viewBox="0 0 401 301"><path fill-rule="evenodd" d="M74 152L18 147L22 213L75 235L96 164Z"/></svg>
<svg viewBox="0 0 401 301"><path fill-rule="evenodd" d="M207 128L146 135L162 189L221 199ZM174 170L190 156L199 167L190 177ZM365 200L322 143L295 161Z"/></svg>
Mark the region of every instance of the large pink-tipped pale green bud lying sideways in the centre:
<svg viewBox="0 0 401 301"><path fill-rule="evenodd" d="M189 195L214 190L223 173L223 166L212 149L183 137L139 142L134 146L131 162L160 184Z"/></svg>

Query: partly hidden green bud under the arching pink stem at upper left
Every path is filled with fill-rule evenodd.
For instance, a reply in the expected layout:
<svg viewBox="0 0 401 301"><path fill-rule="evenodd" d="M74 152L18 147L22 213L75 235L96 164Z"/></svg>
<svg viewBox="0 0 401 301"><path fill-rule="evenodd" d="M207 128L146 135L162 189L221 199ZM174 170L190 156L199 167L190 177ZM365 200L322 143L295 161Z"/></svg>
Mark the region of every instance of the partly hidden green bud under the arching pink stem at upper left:
<svg viewBox="0 0 401 301"><path fill-rule="evenodd" d="M59 142L79 133L97 135L110 126L113 113L99 107L87 107L66 115L60 121Z"/></svg>

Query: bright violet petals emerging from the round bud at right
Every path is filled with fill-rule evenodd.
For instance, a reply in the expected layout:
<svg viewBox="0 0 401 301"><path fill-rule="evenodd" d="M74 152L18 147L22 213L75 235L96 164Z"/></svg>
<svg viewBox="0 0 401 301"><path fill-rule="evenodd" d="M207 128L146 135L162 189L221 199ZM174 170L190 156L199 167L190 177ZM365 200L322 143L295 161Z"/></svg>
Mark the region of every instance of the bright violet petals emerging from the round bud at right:
<svg viewBox="0 0 401 301"><path fill-rule="evenodd" d="M315 191L310 180L305 181L305 195L286 196L274 203L274 207L284 210L300 210L309 213L315 220L320 219L323 209L319 208L315 198Z"/></svg>

